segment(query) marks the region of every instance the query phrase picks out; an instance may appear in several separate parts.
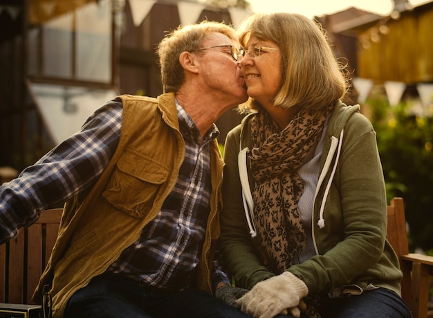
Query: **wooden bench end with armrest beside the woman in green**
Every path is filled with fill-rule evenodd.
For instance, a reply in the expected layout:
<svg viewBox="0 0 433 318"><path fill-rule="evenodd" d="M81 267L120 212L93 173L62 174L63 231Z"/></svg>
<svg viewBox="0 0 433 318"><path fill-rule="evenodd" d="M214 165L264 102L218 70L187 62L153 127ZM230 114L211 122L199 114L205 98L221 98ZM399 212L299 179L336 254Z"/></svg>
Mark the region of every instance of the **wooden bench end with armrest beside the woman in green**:
<svg viewBox="0 0 433 318"><path fill-rule="evenodd" d="M396 251L403 271L401 296L412 311L414 318L433 317L433 310L428 308L430 276L433 276L433 257L409 254L403 199L394 197L387 210L387 240Z"/></svg>

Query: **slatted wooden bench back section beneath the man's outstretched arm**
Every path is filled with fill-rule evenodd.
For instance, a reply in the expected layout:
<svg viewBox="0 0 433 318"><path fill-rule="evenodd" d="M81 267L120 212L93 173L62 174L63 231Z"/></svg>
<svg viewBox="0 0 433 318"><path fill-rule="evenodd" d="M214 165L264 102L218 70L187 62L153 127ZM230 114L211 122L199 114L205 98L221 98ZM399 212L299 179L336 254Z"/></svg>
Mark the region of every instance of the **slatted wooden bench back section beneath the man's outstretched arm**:
<svg viewBox="0 0 433 318"><path fill-rule="evenodd" d="M34 304L31 298L50 258L62 210L42 212L32 226L0 245L0 303Z"/></svg>

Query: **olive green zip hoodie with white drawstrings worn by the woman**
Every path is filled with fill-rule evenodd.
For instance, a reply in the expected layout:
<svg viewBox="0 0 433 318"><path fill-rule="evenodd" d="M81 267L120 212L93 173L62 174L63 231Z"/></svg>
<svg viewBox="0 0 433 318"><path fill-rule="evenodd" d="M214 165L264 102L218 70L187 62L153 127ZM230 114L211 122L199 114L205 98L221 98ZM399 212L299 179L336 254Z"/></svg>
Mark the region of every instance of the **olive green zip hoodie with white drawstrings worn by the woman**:
<svg viewBox="0 0 433 318"><path fill-rule="evenodd" d="M288 268L306 283L310 294L352 285L358 292L373 285L400 294L403 275L386 240L387 202L376 132L359 109L338 102L329 118L312 220L316 255ZM248 233L241 197L238 153L251 148L252 116L244 118L225 141L220 240L227 268L237 285L248 289L273 276ZM248 179L252 189L251 173Z"/></svg>

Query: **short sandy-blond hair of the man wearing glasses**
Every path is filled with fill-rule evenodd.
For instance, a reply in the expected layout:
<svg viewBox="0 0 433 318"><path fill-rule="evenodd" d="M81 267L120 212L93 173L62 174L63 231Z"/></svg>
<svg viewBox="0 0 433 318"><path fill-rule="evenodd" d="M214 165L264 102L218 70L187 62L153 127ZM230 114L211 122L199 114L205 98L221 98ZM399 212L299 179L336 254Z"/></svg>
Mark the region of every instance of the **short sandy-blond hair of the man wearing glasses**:
<svg viewBox="0 0 433 318"><path fill-rule="evenodd" d="M234 28L222 22L208 20L201 21L199 24L178 26L162 39L156 52L159 55L164 93L178 91L183 84L185 73L179 62L181 53L197 51L204 39L212 33L222 33L233 42L238 42Z"/></svg>

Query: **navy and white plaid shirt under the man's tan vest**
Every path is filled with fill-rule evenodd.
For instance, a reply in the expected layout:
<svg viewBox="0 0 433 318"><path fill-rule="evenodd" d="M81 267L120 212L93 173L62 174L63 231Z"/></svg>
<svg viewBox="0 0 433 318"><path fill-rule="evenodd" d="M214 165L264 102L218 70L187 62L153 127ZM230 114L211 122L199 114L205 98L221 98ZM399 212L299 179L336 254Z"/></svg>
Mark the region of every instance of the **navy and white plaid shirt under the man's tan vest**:
<svg viewBox="0 0 433 318"><path fill-rule="evenodd" d="M176 185L156 218L108 271L182 290L199 262L210 211L210 141L219 132L214 125L202 140L190 116L177 103L176 107L186 145ZM121 125L122 103L113 100L92 114L80 132L23 170L18 179L0 186L0 241L34 222L43 209L93 186L116 150ZM218 270L212 280L214 285L227 281Z"/></svg>

